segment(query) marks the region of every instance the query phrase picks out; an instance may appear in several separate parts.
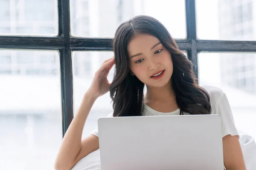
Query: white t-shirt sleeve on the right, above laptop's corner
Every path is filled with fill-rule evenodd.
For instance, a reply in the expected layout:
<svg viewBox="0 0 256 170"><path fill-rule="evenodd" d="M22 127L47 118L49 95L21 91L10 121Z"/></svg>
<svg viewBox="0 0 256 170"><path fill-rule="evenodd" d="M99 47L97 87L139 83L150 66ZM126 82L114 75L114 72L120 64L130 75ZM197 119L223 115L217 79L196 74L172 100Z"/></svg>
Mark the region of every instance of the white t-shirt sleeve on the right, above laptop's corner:
<svg viewBox="0 0 256 170"><path fill-rule="evenodd" d="M239 136L230 104L225 93L221 94L215 105L213 105L212 114L218 114L221 116L222 137L227 135Z"/></svg>

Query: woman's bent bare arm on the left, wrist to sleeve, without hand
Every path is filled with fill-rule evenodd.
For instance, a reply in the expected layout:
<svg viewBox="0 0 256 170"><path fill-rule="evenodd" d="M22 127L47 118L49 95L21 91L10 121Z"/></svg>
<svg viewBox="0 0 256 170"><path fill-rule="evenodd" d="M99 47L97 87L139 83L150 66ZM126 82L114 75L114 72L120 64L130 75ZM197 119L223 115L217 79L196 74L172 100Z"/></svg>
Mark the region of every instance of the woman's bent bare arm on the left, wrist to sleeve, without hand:
<svg viewBox="0 0 256 170"><path fill-rule="evenodd" d="M55 160L55 170L70 170L80 159L99 148L97 136L87 136L81 141L84 124L96 99L86 93L79 111L65 133Z"/></svg>

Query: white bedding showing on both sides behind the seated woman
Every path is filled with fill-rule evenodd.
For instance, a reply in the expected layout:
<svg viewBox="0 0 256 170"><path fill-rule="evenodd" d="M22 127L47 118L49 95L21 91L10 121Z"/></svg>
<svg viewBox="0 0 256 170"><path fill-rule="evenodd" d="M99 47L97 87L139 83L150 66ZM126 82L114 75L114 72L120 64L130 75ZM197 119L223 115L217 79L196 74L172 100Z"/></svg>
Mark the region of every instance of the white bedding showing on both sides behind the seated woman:
<svg viewBox="0 0 256 170"><path fill-rule="evenodd" d="M240 144L247 170L256 170L256 143L251 136L239 131ZM101 170L99 149L81 159L71 170Z"/></svg>

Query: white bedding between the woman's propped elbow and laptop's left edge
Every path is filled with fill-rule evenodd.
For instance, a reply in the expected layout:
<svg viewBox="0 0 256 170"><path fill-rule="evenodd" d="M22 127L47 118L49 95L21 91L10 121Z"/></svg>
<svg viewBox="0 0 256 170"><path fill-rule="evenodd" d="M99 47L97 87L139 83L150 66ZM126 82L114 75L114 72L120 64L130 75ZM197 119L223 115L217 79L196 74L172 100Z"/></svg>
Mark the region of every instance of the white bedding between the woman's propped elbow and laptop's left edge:
<svg viewBox="0 0 256 170"><path fill-rule="evenodd" d="M71 170L101 170L99 149L82 158Z"/></svg>

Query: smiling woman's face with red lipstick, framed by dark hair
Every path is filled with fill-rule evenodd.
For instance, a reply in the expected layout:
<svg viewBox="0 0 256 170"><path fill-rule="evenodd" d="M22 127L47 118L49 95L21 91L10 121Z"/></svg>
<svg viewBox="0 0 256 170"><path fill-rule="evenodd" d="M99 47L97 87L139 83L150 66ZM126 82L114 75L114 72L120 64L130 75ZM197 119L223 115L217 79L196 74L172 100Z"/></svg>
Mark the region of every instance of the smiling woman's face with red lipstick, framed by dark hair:
<svg viewBox="0 0 256 170"><path fill-rule="evenodd" d="M172 77L172 56L157 37L136 34L128 43L130 70L149 87L163 87ZM160 73L156 77L154 74Z"/></svg>

